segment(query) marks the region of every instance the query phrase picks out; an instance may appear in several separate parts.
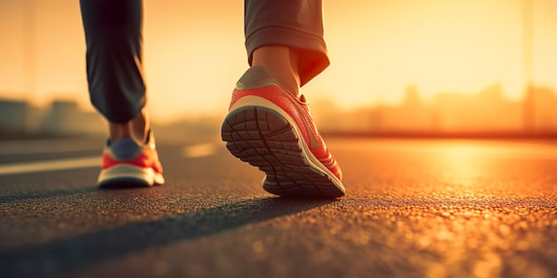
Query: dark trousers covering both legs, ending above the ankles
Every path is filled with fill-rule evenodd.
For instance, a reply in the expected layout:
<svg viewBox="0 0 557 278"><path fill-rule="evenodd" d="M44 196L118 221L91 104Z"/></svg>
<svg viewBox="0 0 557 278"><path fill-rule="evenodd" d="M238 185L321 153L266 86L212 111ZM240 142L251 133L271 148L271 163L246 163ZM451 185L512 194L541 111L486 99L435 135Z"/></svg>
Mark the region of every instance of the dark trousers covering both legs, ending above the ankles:
<svg viewBox="0 0 557 278"><path fill-rule="evenodd" d="M142 0L80 0L87 44L87 81L93 106L110 122L125 123L147 101L143 77ZM302 84L328 66L321 0L246 0L246 50L285 45L302 51Z"/></svg>

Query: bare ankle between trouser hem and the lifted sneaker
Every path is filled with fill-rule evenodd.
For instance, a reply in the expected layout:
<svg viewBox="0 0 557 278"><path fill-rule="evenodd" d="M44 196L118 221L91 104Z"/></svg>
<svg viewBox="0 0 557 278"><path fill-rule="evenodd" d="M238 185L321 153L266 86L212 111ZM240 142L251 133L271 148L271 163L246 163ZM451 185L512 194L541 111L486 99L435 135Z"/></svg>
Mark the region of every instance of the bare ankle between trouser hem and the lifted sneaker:
<svg viewBox="0 0 557 278"><path fill-rule="evenodd" d="M252 66L261 66L269 72L296 99L300 98L300 75L297 52L287 46L262 46L254 51Z"/></svg>

